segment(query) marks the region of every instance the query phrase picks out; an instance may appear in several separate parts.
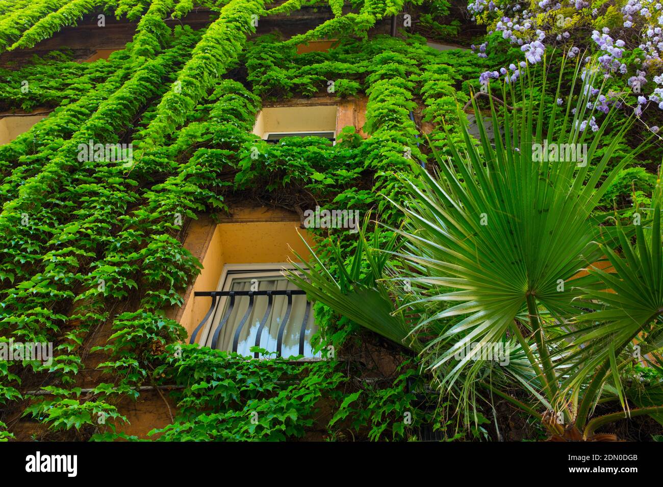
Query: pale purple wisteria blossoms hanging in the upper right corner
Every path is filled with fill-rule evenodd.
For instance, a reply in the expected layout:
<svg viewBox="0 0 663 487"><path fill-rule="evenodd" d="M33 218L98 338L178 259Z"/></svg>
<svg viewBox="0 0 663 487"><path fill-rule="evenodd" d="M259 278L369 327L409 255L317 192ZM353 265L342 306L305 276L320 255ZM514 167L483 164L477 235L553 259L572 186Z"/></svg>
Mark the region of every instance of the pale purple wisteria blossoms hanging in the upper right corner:
<svg viewBox="0 0 663 487"><path fill-rule="evenodd" d="M590 54L595 53L593 57L597 58L605 78L623 76L627 81L637 97L636 116L639 117L650 104L663 110L663 60L660 57L663 52L663 4L658 0L627 0L621 7L621 25L615 25L614 15L605 15L609 8L614 12L610 2L590 10L586 0L495 1L474 0L468 5L469 13L477 23L488 26L489 35L500 32L501 39L520 46L524 62L541 62L547 48L561 47L568 58L575 58L581 50L587 50ZM611 28L601 25L606 18L612 19L611 27L617 36L611 36ZM589 39L584 28L587 24L595 26ZM472 48L486 58L490 45L493 44L483 42ZM632 56L635 48L642 53ZM590 57L587 56L586 60ZM486 85L490 80L504 76L507 82L511 82L518 78L518 74L515 67L511 71L501 68L484 72L479 81ZM653 83L648 83L650 80ZM621 105L617 93L597 95L598 89L591 86L588 89L591 89L591 95L597 96L589 103L589 108L596 109L597 113L607 113L613 103ZM584 121L580 130L586 127L594 130L595 121Z"/></svg>

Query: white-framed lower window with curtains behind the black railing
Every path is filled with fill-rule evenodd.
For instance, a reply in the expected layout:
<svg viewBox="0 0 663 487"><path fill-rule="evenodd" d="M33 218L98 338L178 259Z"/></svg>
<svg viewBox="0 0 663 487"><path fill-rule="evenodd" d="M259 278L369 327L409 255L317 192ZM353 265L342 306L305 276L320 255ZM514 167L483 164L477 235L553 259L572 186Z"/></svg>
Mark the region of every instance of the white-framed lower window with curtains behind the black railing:
<svg viewBox="0 0 663 487"><path fill-rule="evenodd" d="M312 357L316 333L314 313L306 294L288 281L288 264L227 264L218 291L210 296L208 314L191 338L218 350L249 356L258 346L282 356ZM254 354L255 358L259 354Z"/></svg>

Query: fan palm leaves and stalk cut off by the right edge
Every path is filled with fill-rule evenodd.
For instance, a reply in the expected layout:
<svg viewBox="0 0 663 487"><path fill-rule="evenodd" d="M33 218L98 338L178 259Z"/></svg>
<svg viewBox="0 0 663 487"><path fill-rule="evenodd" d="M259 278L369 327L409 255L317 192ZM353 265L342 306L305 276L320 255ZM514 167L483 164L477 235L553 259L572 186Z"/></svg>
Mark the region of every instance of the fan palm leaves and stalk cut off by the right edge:
<svg viewBox="0 0 663 487"><path fill-rule="evenodd" d="M570 366L562 388L568 393L581 391L579 404L575 400L575 426L583 428L584 438L617 419L663 412L663 404L629 410L620 380L621 370L634 358L640 360L663 347L660 186L656 192L658 197L654 197L653 207L648 211L651 226L643 229L642 223L634 225L635 244L628 238L630 232L624 231L617 219L620 252L601 246L613 272L591 268L589 272L599 279L599 284L585 288L581 296L583 305L595 307L596 311L573 319L577 327L570 335L574 339L565 360ZM600 400L601 389L610 375L624 411L588 421L590 409ZM661 386L656 389L660 394Z"/></svg>

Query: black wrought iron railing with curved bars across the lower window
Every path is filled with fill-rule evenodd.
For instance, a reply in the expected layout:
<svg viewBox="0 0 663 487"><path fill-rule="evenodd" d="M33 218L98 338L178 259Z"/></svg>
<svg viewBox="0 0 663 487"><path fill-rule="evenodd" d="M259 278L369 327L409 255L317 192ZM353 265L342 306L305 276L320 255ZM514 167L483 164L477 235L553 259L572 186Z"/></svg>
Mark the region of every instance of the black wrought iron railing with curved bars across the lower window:
<svg viewBox="0 0 663 487"><path fill-rule="evenodd" d="M265 325L267 324L267 319L269 318L269 315L272 311L272 305L274 304L274 296L287 296L288 298L288 305L286 307L286 312L283 315L283 319L281 320L280 327L278 328L278 335L276 338L276 354L278 356L281 355L281 349L283 346L283 333L286 329L286 326L288 325L288 319L290 319L290 311L292 311L292 296L298 296L306 294L306 292L302 290L282 290L282 291L196 291L194 292L194 296L210 296L211 297L211 305L210 309L208 310L207 314L205 317L202 319L198 327L194 330L194 333L191 335L191 339L189 343L196 343L196 336L198 335L198 332L204 327L205 323L207 323L208 319L210 319L210 316L214 313L215 309L221 303L221 297L227 296L230 298L229 304L225 310L225 313L223 313L223 317L221 317L221 321L219 321L219 324L216 326L216 328L213 331L212 335L212 341L211 341L211 348L215 349L217 346L217 343L219 341L219 334L221 333L221 329L223 329L223 326L227 323L228 318L230 317L231 313L233 312L233 308L235 307L235 303L237 302L238 297L241 296L249 296L249 307L247 307L246 312L244 313L244 316L242 317L241 321L239 322L239 325L237 325L237 330L235 330L235 335L233 336L233 352L237 352L237 345L239 344L239 335L241 334L241 331L247 322L247 319L249 319L249 316L251 315L251 311L253 310L253 304L255 303L254 299L255 296L267 296L267 310L265 311L265 315L263 316L263 319L260 322L260 325L258 327L257 335L255 337L255 346L259 347L260 345L260 339L263 334L263 329L265 328ZM304 311L304 320L302 321L302 325L300 327L300 335L299 335L299 354L303 355L304 354L304 335L306 334L306 325L308 323L308 316L311 311L311 303L306 300L306 311ZM255 358L258 358L258 352L255 352Z"/></svg>

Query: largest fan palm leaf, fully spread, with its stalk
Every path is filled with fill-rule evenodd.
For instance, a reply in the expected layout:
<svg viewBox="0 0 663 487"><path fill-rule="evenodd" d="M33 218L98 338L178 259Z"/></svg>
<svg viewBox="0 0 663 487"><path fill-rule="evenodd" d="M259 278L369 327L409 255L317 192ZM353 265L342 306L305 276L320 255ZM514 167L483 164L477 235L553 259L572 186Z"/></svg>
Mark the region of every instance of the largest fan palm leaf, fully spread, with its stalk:
<svg viewBox="0 0 663 487"><path fill-rule="evenodd" d="M579 69L577 65L574 80L581 78ZM541 76L545 85L546 74ZM463 124L465 143L450 144L448 160L438 156L438 178L427 172L417 180L404 178L413 197L401 207L408 223L394 231L410 243L398 256L420 266L422 275L416 282L429 286L419 301L438 310L417 327L450 323L424 349L430 368L444 371L438 374L441 384L453 384L461 374L465 382L471 381L473 371L485 365L473 356L455 360L457 351L470 343L477 343L477 350L490 347L510 331L528 354L544 395L552 402L557 390L550 358L554 350L546 339L540 307L553 317L567 317L577 296L575 288L597 279L590 274L574 279L573 286L566 285L579 270L601 258L603 250L594 241L591 213L635 152L609 170L629 122L603 147L601 156L595 157L614 111L591 142L586 142L587 132L580 128L581 117L592 115L585 113L597 79L591 67L585 68L579 83L575 115L570 116L569 106L566 113L555 106L547 124L543 117L546 99L543 94L533 94L533 78L521 78L520 110L510 111L503 104L498 111L491 98L494 144L489 143L486 124L473 101L481 147ZM512 96L514 91L511 87ZM503 90L506 98L507 89ZM558 117L562 123L555 123ZM585 160L537 157L535 148L552 144L586 144ZM522 312L528 315L525 327L516 324L516 316ZM536 341L538 354L530 337Z"/></svg>

